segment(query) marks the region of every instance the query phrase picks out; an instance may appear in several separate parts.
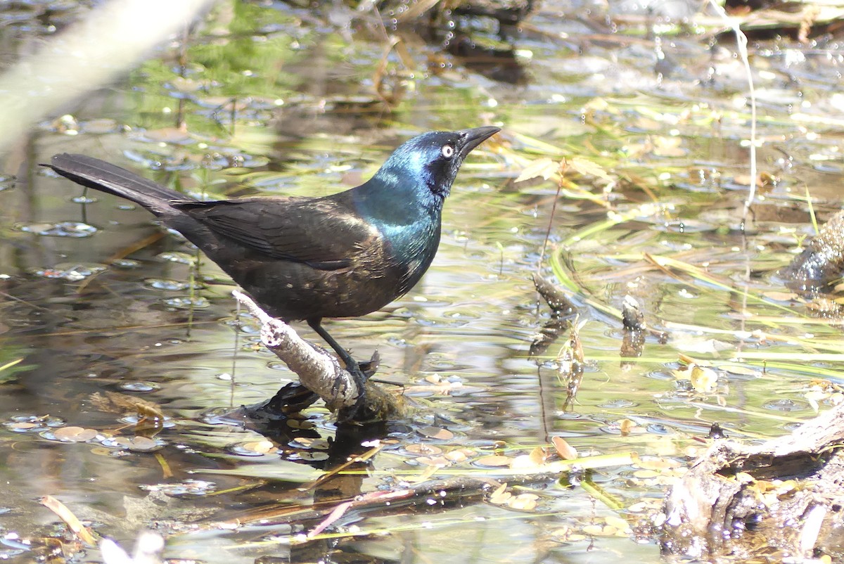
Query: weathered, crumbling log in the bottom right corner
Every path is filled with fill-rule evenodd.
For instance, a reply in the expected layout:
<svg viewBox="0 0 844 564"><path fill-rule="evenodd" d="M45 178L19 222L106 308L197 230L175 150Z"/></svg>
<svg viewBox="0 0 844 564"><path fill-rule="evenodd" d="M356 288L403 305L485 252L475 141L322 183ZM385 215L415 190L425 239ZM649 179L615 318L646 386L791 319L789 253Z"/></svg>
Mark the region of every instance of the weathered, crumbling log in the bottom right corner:
<svg viewBox="0 0 844 564"><path fill-rule="evenodd" d="M663 502L663 554L714 562L824 555L841 561L842 447L841 405L757 446L715 442Z"/></svg>

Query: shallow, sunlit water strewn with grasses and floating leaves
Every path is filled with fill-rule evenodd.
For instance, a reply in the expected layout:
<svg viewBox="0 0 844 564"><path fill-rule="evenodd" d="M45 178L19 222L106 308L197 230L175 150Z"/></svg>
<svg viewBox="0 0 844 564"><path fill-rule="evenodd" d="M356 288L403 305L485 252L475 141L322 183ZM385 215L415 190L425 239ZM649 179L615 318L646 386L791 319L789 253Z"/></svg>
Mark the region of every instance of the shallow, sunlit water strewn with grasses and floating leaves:
<svg viewBox="0 0 844 564"><path fill-rule="evenodd" d="M777 182L760 190L756 221L742 236L749 110L732 44L710 48L706 30L675 36L672 26L648 19L605 34L596 30L601 14L586 18L579 6L564 18L561 4L544 3L510 38L517 68L478 68L400 26L406 54L392 51L381 79L398 100L392 108L372 94L384 52L372 14L222 4L187 39L111 87L68 102L65 117L21 139L0 171L8 176L0 183L0 366L22 359L0 371L7 484L0 510L8 509L0 512L0 556L30 561L41 554L41 538L62 534L49 525L57 518L33 501L50 495L127 546L154 522L168 535L167 556L203 562L656 561L647 535L588 528L608 516L636 524L647 514L636 502L657 505L670 478L637 474L630 464L528 482L524 491L538 496L529 511L432 496L393 513L356 513L338 523L336 541L296 544L296 534L319 523L312 515L236 530L213 523L256 507L311 507L315 499L412 482L430 463L419 445L468 449L467 462L429 479L495 477L480 458L529 453L553 436L583 457L635 451L684 461L712 422L731 437L772 437L814 415L815 402L823 409L835 401L840 394L814 393L809 384L838 383L837 322L813 315L776 275L811 233L798 198L808 189L821 219L838 207L835 41L752 46L759 167ZM41 3L18 6L0 15L7 57L78 16L73 3L55 14ZM495 24L462 24L500 45ZM379 377L406 386L419 409L389 426L393 442L358 465L362 477L341 476L316 491L295 489L319 475L301 461L331 468L343 459L338 449L325 454L268 437L279 451L254 453L250 445L263 440L257 433L209 424L216 421L209 414L267 399L294 379L256 346L257 330L236 311L225 275L203 258L194 271L194 250L145 211L83 193L37 166L68 151L147 169L191 193L318 196L360 183L415 133L485 123L503 132L463 166L425 279L382 312L330 325L355 355L377 349ZM586 370L573 402L555 361L567 334L540 358L528 355L549 320L531 275L556 185L513 180L546 156L590 160L611 182L568 173L574 183L557 202L541 266L557 284L565 274L577 288ZM603 225L608 218L619 220ZM641 357L622 367L623 331L606 307L619 308L628 294L668 342L648 336ZM302 334L315 338L306 328ZM696 390L674 374L681 353L716 366L713 388ZM798 357L810 353L826 356ZM107 393L160 407L167 419L154 434L158 450L104 435L133 437L132 409L109 404ZM311 429L294 436L333 437L326 409L306 414ZM62 442L56 430L67 426L100 436ZM166 495L145 497L165 484ZM96 550L76 556L98 557Z"/></svg>

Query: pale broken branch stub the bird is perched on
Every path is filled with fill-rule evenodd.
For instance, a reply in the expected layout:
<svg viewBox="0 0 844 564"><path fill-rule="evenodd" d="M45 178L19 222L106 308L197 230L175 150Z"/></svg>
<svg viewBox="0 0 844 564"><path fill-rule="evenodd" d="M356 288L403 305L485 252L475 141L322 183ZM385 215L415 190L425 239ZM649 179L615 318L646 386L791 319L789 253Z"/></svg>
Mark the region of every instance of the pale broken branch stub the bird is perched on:
<svg viewBox="0 0 844 564"><path fill-rule="evenodd" d="M240 290L233 290L232 294L261 322L262 343L295 372L303 386L322 398L332 411L354 407L362 390L333 355L302 339L287 323L264 312ZM392 394L367 385L365 404L355 419L386 419L401 411Z"/></svg>

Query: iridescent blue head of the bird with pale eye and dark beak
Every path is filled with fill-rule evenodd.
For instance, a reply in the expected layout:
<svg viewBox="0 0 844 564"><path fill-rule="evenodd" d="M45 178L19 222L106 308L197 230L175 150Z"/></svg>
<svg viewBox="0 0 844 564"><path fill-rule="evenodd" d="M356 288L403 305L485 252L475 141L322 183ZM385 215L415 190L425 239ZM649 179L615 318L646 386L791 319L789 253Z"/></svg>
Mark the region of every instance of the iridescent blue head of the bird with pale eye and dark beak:
<svg viewBox="0 0 844 564"><path fill-rule="evenodd" d="M441 204L466 155L499 131L488 126L423 133L393 151L370 182L377 179L393 189L427 188L428 193L418 194L419 198Z"/></svg>

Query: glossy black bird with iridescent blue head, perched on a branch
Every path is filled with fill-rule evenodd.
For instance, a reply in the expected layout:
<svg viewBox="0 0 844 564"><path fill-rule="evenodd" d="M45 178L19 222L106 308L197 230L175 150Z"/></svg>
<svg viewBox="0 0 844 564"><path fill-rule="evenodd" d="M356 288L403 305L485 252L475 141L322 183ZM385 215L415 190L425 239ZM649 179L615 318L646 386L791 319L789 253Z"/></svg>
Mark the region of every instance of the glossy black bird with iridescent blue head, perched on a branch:
<svg viewBox="0 0 844 564"><path fill-rule="evenodd" d="M423 133L393 151L369 181L324 198L206 202L84 155L56 155L47 166L149 209L270 315L305 320L363 390L360 366L322 318L374 312L419 282L440 244L442 204L463 159L499 131Z"/></svg>

